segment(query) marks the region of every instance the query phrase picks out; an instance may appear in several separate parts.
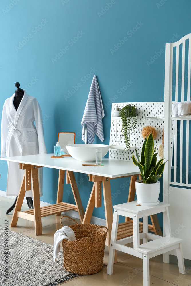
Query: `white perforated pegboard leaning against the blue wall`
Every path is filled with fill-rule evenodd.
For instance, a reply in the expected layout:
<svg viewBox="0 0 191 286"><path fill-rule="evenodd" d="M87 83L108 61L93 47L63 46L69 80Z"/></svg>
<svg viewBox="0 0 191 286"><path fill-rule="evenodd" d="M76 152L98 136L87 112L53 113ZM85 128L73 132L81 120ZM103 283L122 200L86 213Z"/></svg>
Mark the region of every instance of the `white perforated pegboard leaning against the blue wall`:
<svg viewBox="0 0 191 286"><path fill-rule="evenodd" d="M120 149L109 149L109 159L115 160L132 160L132 152L135 154L135 147L139 156L141 156L141 149L143 146L144 138L141 135L143 127L146 126L148 120L152 122L153 127L157 131L157 137L154 140L154 144L160 146L162 144L162 133L164 124L164 102L118 102L112 103L111 110L111 128L110 128L110 141L109 145L120 145L124 149L125 142L123 135L121 134L121 117L113 117L113 113L116 111L116 106L119 105L120 109L125 105L133 103L137 106L137 127L135 132L130 135L130 150L123 151ZM116 136L117 135L117 136ZM134 148L133 148L134 146ZM119 148L119 147L118 147ZM158 147L157 147L158 149Z"/></svg>

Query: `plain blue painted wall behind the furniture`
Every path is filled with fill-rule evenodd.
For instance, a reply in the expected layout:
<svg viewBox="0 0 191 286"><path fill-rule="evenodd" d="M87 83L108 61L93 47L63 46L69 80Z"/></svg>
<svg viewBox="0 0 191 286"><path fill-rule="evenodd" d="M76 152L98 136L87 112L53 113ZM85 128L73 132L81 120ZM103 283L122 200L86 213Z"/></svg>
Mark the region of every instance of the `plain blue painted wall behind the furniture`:
<svg viewBox="0 0 191 286"><path fill-rule="evenodd" d="M82 143L81 120L94 74L105 108L104 144L109 144L112 102L163 100L165 43L191 32L187 0L6 0L0 7L0 110L20 82L40 103L49 153L58 132L75 132L76 143ZM131 86L119 92L127 80ZM0 162L0 172L0 189L6 190L7 163ZM92 183L75 175L86 208ZM58 170L44 168L41 200L56 202L57 179ZM112 180L113 204L127 199L128 185L128 178ZM64 200L74 202L70 186L64 189ZM105 218L104 208L93 215Z"/></svg>

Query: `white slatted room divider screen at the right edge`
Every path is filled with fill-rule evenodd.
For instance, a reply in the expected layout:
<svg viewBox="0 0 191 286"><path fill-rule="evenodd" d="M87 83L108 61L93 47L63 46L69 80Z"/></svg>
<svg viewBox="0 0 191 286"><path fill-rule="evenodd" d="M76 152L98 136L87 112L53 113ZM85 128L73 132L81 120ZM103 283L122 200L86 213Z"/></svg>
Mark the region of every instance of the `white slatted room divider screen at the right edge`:
<svg viewBox="0 0 191 286"><path fill-rule="evenodd" d="M191 116L175 117L172 101L190 101L190 72L191 34L166 44L164 90L164 158L169 161L164 170L163 201L170 203L172 236L184 239L183 254L187 259L191 259ZM169 143L172 127L173 152Z"/></svg>

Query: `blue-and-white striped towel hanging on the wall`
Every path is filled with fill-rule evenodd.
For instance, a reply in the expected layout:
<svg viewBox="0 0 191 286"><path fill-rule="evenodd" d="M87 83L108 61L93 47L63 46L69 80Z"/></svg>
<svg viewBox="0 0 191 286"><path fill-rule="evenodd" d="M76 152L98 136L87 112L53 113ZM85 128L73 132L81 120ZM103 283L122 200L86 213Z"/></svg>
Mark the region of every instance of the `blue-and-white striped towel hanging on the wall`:
<svg viewBox="0 0 191 286"><path fill-rule="evenodd" d="M101 142L103 142L103 117L104 111L101 95L99 92L96 76L94 76L81 122L82 126L84 126L84 123L87 124L88 144L92 144L94 142L95 134L99 137ZM82 135L82 140L85 142L85 135Z"/></svg>

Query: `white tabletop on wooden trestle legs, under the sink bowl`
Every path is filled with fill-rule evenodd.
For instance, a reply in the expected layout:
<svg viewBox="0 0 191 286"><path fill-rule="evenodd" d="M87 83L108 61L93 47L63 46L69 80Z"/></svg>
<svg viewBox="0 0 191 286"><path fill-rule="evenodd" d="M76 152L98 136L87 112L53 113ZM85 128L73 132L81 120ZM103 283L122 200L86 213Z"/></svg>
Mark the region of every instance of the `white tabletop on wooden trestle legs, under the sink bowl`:
<svg viewBox="0 0 191 286"><path fill-rule="evenodd" d="M139 168L135 166L133 162L102 158L102 164L104 166L82 166L82 164L95 164L95 162L80 162L70 156L64 158L50 158L52 155L54 154L4 157L1 158L1 160L92 174L108 178L131 176L140 173Z"/></svg>

